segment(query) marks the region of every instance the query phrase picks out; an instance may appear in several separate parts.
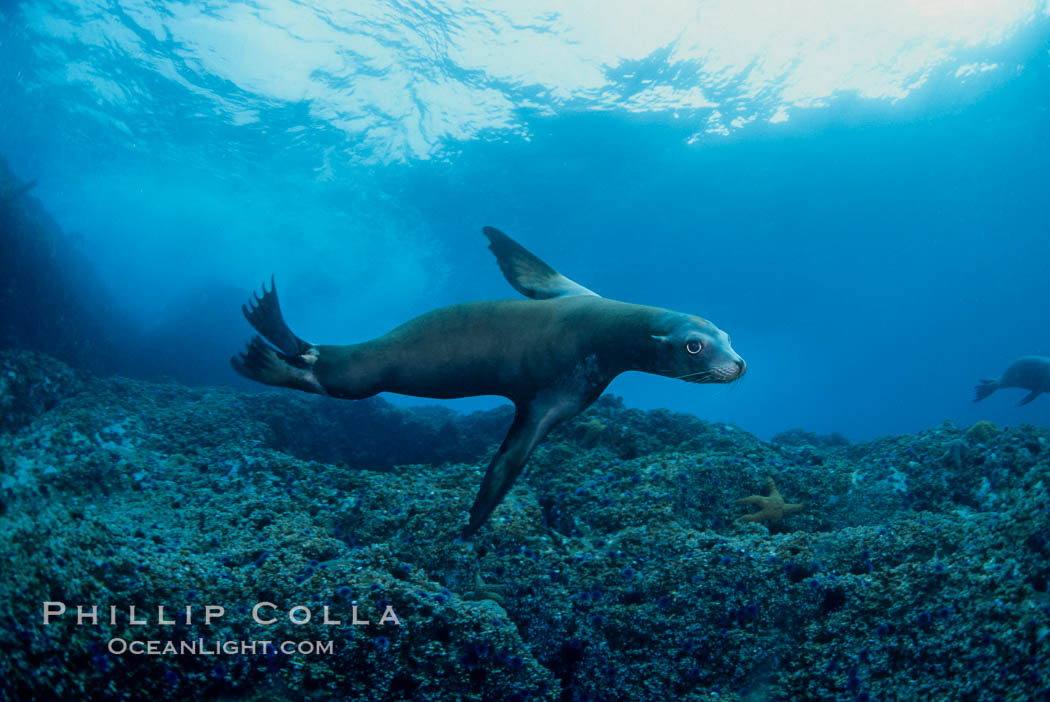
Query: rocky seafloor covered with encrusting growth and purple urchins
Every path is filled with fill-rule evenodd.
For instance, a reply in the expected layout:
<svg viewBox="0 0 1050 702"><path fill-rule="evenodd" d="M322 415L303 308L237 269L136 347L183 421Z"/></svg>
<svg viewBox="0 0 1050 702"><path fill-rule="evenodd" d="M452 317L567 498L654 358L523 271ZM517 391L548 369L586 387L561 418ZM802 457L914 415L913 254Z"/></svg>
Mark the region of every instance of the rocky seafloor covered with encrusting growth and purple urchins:
<svg viewBox="0 0 1050 702"><path fill-rule="evenodd" d="M458 541L509 419L0 354L0 698L1048 697L1047 430L763 442L606 397ZM740 520L769 476L805 508ZM45 625L45 601L68 612ZM277 623L253 622L260 601ZM161 604L193 623L159 624ZM205 604L225 616L203 624ZM297 604L311 622L285 618ZM112 638L333 650L118 656Z"/></svg>

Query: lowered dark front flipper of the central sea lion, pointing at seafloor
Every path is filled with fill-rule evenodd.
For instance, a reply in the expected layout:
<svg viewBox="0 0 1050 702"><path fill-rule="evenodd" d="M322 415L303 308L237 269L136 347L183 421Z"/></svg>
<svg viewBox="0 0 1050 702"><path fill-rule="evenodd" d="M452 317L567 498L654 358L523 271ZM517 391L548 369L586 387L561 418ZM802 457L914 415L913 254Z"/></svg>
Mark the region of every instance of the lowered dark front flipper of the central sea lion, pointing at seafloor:
<svg viewBox="0 0 1050 702"><path fill-rule="evenodd" d="M488 464L481 489L470 507L470 522L463 530L464 538L474 536L485 524L488 515L503 501L514 480L525 467L536 445L547 435L551 427L579 411L565 404L537 403L519 404L513 424L500 450Z"/></svg>

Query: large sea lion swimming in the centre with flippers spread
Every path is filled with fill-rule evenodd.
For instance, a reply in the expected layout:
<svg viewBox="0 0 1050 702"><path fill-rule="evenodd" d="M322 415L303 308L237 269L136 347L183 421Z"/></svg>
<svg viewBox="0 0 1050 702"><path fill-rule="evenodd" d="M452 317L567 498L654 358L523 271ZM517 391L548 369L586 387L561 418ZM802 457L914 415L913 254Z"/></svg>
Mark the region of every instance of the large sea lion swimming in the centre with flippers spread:
<svg viewBox="0 0 1050 702"><path fill-rule="evenodd" d="M729 383L747 369L711 322L600 297L506 234L482 231L504 276L531 299L455 304L372 341L321 346L288 328L271 279L270 290L264 285L262 297L243 307L261 337L231 359L237 373L260 383L336 398L500 395L513 402L513 423L488 465L464 536L485 523L547 432L586 409L620 374Z"/></svg>

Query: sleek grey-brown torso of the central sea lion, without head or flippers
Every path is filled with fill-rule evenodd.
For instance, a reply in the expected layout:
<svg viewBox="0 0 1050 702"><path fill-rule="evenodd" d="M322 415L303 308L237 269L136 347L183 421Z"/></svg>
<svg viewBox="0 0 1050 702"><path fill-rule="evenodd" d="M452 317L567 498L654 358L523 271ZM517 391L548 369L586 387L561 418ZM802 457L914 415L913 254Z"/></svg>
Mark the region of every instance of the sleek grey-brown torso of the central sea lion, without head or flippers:
<svg viewBox="0 0 1050 702"><path fill-rule="evenodd" d="M621 373L647 369L642 354L623 340L649 342L653 318L666 314L590 296L467 302L372 341L317 346L314 376L329 395L354 400L399 392L501 395L517 403L573 378L574 391L586 380L601 392Z"/></svg>

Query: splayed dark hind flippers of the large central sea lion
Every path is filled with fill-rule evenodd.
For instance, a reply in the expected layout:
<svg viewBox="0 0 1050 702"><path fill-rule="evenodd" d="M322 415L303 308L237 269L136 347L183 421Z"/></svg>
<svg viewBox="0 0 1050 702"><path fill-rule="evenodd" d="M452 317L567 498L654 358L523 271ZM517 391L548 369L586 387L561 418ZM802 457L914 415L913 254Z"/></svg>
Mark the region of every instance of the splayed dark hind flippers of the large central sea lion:
<svg viewBox="0 0 1050 702"><path fill-rule="evenodd" d="M262 336L252 337L248 347L230 359L233 369L245 378L267 385L327 395L313 373L317 349L288 328L285 317L280 314L277 288L272 277L270 290L264 283L262 297L255 294L253 298L248 304L242 305L240 311Z"/></svg>

